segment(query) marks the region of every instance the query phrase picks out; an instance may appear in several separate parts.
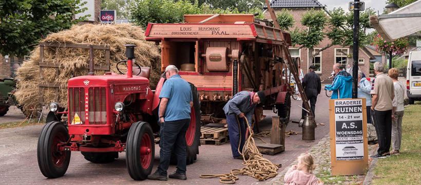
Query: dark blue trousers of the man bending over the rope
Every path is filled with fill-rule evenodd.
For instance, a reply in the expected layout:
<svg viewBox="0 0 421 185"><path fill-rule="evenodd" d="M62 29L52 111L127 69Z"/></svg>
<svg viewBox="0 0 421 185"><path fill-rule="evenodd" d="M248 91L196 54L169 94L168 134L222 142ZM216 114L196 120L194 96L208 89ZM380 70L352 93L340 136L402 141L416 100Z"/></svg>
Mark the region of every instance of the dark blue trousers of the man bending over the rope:
<svg viewBox="0 0 421 185"><path fill-rule="evenodd" d="M245 125L244 118L238 118L240 121L240 127L238 127L236 115L226 115L226 124L228 127L229 143L231 144L231 151L233 152L233 157L240 156L238 153L238 144L240 144L240 152L243 151L243 146L245 142ZM240 143L240 133L241 133L241 143Z"/></svg>

